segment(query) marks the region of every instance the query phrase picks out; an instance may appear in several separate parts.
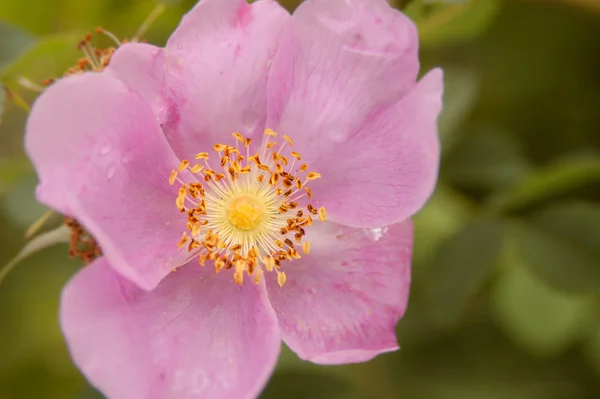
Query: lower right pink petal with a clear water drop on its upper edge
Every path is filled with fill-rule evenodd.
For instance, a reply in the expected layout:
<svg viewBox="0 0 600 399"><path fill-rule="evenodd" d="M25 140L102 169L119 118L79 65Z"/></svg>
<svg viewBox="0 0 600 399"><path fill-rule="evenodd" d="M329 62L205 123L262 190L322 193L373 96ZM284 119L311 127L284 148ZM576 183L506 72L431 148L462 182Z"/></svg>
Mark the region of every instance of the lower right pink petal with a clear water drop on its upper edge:
<svg viewBox="0 0 600 399"><path fill-rule="evenodd" d="M328 222L308 234L310 255L283 268L285 285L267 280L285 343L321 364L398 349L394 329L408 302L412 223L367 230Z"/></svg>

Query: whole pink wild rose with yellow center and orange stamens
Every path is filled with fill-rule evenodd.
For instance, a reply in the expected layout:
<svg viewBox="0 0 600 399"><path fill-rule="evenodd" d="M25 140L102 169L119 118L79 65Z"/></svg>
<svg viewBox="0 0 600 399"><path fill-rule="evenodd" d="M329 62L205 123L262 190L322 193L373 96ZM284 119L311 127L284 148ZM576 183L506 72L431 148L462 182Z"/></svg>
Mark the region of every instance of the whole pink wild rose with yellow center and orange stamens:
<svg viewBox="0 0 600 399"><path fill-rule="evenodd" d="M413 23L381 0L292 16L203 0L165 48L125 44L40 96L26 134L38 199L103 253L60 310L93 385L250 398L281 340L320 364L398 348L410 217L439 158L442 73L417 83L417 53Z"/></svg>

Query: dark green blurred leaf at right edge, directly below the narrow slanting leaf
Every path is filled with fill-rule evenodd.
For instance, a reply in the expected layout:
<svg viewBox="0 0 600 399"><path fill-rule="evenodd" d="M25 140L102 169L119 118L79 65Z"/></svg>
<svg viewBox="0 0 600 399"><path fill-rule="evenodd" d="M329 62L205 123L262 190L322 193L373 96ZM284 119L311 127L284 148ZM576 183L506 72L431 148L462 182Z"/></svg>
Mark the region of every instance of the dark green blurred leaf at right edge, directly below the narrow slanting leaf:
<svg viewBox="0 0 600 399"><path fill-rule="evenodd" d="M520 256L552 286L573 292L600 289L600 207L552 205L512 226Z"/></svg>

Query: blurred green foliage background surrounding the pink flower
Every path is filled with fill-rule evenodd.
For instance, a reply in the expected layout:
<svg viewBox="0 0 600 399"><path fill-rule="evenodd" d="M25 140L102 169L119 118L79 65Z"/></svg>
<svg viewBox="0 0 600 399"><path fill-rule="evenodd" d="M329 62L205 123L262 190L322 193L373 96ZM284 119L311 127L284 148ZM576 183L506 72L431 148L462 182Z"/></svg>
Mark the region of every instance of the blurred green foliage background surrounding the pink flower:
<svg viewBox="0 0 600 399"><path fill-rule="evenodd" d="M146 39L164 44L193 3L167 2ZM131 37L156 4L0 0L0 267L46 211L22 148L35 93L19 77L60 75L86 30ZM599 398L600 1L396 5L419 26L423 70L446 71L441 176L416 217L402 349L342 367L284 351L262 397ZM100 398L57 324L80 266L54 245L0 282L0 399Z"/></svg>

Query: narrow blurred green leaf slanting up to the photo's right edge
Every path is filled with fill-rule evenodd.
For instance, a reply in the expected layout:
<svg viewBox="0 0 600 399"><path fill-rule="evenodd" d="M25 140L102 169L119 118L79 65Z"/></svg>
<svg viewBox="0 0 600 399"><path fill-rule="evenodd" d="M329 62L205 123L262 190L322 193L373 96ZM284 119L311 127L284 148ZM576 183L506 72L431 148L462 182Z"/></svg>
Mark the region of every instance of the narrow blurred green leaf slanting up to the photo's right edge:
<svg viewBox="0 0 600 399"><path fill-rule="evenodd" d="M516 184L492 197L489 208L496 212L516 211L599 182L600 157L570 157L525 175Z"/></svg>

